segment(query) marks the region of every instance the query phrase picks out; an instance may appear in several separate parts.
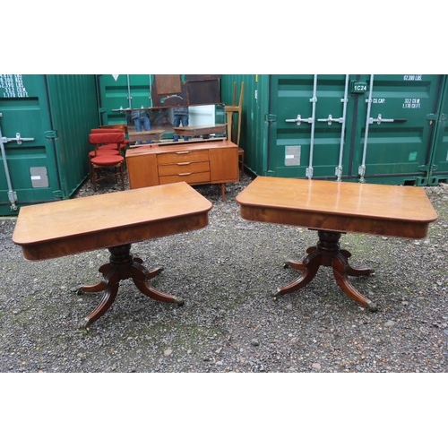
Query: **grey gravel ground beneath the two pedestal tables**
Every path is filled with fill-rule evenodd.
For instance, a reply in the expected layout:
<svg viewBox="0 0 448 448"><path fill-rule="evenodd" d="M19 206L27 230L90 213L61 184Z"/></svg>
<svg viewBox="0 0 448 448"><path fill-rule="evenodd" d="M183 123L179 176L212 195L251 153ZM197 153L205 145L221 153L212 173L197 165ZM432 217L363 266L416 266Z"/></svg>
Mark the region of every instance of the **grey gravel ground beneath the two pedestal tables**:
<svg viewBox="0 0 448 448"><path fill-rule="evenodd" d="M146 373L445 373L448 367L448 188L426 187L439 214L423 240L349 234L341 245L353 266L375 269L354 285L379 306L349 300L329 268L304 289L271 298L297 276L316 234L306 228L249 222L239 216L244 175L197 191L213 208L206 228L133 245L146 267L163 266L155 288L185 306L143 296L130 280L88 331L78 324L99 294L77 293L99 281L99 250L25 261L12 242L15 219L0 218L0 371ZM97 194L113 191L103 185ZM78 196L93 194L87 182Z"/></svg>

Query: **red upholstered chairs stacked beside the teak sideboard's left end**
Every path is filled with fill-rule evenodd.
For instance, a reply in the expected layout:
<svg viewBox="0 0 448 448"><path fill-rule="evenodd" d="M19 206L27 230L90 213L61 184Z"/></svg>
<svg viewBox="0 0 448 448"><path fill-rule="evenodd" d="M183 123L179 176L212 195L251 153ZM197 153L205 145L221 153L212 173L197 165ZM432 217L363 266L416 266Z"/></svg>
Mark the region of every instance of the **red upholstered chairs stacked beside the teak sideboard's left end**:
<svg viewBox="0 0 448 448"><path fill-rule="evenodd" d="M89 153L90 181L93 190L97 191L99 181L114 177L121 179L121 189L125 190L125 158L120 154L121 145L125 141L123 133L90 133L89 142L93 145L93 156ZM115 148L116 153L108 153L102 150L102 145L112 145L109 151Z"/></svg>

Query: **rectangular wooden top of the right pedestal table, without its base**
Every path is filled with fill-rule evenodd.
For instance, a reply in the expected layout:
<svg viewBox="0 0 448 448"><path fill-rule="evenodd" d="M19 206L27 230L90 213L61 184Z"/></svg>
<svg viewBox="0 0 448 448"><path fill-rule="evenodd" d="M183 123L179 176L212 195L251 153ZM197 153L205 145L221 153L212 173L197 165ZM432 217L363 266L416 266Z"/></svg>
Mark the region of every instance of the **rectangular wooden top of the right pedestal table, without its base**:
<svg viewBox="0 0 448 448"><path fill-rule="evenodd" d="M437 219L418 186L256 177L236 200L246 220L391 237L426 237Z"/></svg>

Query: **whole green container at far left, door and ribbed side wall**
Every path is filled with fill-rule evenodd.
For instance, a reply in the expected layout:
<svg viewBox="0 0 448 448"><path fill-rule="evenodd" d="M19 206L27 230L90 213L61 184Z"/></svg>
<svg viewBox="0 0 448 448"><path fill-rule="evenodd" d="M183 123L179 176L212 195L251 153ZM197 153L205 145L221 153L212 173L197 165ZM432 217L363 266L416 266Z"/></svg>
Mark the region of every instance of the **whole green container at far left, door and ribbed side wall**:
<svg viewBox="0 0 448 448"><path fill-rule="evenodd" d="M99 125L94 75L0 74L0 215L71 197Z"/></svg>

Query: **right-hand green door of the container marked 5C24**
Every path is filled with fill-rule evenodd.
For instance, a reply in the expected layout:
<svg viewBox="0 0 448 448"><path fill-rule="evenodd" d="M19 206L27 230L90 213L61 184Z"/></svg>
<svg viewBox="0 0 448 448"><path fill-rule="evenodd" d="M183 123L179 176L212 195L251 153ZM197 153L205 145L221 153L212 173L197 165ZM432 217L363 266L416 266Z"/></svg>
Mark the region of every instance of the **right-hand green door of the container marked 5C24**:
<svg viewBox="0 0 448 448"><path fill-rule="evenodd" d="M426 185L443 75L359 75L353 167L361 182Z"/></svg>

